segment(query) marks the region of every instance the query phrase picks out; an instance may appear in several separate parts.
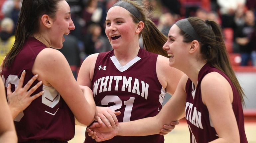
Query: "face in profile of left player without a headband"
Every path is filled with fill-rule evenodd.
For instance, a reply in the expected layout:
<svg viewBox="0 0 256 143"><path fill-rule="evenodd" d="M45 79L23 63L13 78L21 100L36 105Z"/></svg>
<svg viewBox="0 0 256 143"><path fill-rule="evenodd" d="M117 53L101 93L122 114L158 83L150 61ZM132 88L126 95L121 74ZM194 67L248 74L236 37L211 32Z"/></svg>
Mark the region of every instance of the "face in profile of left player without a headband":
<svg viewBox="0 0 256 143"><path fill-rule="evenodd" d="M69 34L70 30L75 29L75 26L70 17L70 8L67 2L65 0L59 1L57 7L49 37L51 47L61 49L62 43L65 41L64 34Z"/></svg>

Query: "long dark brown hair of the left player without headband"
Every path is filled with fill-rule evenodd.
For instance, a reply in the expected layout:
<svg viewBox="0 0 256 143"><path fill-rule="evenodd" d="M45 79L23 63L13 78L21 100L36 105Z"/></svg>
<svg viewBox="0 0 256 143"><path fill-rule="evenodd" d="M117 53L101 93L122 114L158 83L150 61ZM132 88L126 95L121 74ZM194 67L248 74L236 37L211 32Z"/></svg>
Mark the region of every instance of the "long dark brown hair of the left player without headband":
<svg viewBox="0 0 256 143"><path fill-rule="evenodd" d="M21 12L15 31L15 42L5 58L4 67L11 66L26 39L38 32L40 18L44 14L55 18L59 1L62 0L22 0Z"/></svg>

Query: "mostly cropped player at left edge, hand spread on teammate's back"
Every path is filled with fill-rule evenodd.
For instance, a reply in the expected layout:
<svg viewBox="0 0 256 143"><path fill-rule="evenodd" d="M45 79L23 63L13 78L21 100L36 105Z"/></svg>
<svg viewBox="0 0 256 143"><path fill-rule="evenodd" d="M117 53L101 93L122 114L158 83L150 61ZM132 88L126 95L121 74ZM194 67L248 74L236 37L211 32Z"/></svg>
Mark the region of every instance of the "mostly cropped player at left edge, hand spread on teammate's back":
<svg viewBox="0 0 256 143"><path fill-rule="evenodd" d="M0 65L0 76L2 73L3 63ZM13 119L19 114L20 111L23 111L24 108L28 107L28 105L37 97L43 94L43 91L35 94L34 96L30 96L40 85L42 82L37 83L31 89L30 86L37 79L38 75L33 76L32 79L23 87L23 82L25 78L25 71L22 72L20 81L18 86L14 92L11 91L11 86L7 87L7 98L9 102L9 107L6 101L5 88L3 81L0 80L0 142L8 142L8 143L17 143L17 134L15 131L15 127L13 124ZM29 90L28 90L29 89ZM12 100L10 102L10 100ZM18 106L17 106L18 104Z"/></svg>

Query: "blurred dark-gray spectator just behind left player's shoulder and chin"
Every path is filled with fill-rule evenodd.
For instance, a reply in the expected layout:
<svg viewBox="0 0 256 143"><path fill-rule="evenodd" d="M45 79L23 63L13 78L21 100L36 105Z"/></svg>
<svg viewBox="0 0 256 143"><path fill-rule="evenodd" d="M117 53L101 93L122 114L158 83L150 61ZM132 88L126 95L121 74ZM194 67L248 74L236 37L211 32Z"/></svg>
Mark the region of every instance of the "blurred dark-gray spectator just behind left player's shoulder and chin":
<svg viewBox="0 0 256 143"><path fill-rule="evenodd" d="M78 39L73 35L64 35L65 41L63 42L62 49L59 50L62 54L64 54L67 59L68 64L72 70L72 73L77 78L77 71L80 67L80 57L79 57L79 47L78 47Z"/></svg>

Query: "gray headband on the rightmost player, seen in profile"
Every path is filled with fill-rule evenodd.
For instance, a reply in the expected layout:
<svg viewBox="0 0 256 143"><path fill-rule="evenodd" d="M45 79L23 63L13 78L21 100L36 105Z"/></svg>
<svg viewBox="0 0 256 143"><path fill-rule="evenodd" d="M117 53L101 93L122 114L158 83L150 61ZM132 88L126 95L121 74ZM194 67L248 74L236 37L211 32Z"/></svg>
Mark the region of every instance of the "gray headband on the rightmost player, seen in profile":
<svg viewBox="0 0 256 143"><path fill-rule="evenodd" d="M197 35L194 28L187 18L181 19L175 23L181 30L193 37L195 40L201 41L201 38Z"/></svg>

